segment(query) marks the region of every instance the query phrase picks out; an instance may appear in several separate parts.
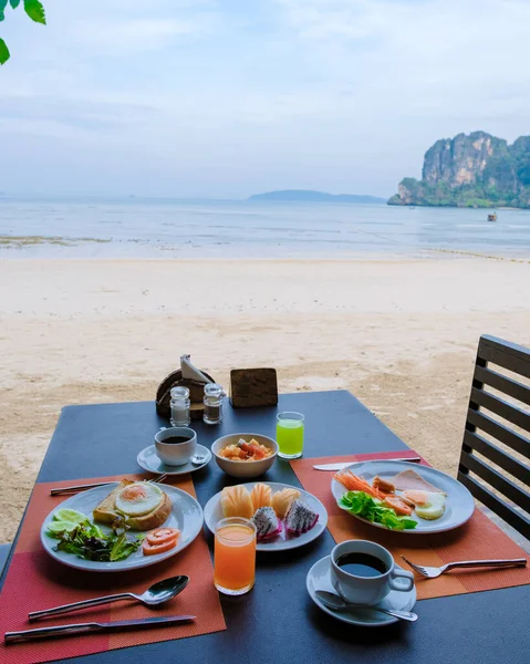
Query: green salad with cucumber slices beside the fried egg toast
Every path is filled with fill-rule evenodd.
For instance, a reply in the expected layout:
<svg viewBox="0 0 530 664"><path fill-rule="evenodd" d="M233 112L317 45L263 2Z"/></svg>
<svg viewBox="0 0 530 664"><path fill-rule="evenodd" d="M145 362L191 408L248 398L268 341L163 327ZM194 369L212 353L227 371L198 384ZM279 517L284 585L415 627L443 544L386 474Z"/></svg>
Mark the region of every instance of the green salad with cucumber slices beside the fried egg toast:
<svg viewBox="0 0 530 664"><path fill-rule="evenodd" d="M121 522L117 522L116 528L113 527L111 532L105 533L87 517L74 510L58 510L53 519L46 529L46 535L59 540L54 550L74 553L84 560L98 562L124 560L134 553L144 540L142 535L128 538Z"/></svg>

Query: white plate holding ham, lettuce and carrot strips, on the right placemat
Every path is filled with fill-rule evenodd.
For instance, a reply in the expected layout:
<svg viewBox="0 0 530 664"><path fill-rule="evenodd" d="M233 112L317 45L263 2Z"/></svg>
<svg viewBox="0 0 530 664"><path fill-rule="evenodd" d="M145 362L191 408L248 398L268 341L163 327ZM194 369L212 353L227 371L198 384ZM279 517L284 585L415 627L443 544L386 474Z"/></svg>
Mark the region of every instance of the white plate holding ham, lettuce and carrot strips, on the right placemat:
<svg viewBox="0 0 530 664"><path fill-rule="evenodd" d="M441 473L440 470L435 470L435 468L419 466L418 464L407 464L406 461L377 460L351 464L350 466L346 466L344 470L351 470L354 475L362 476L364 479L372 483L376 475L382 478L388 478L397 475L402 470L406 470L407 468L415 470L426 481L445 491L447 497L445 511L439 519L428 521L426 519L420 519L415 515L415 512L413 512L412 517L409 518L417 521L416 528L414 528L414 530L401 530L399 532L404 532L406 535L445 532L446 530L458 528L458 526L461 526L471 518L475 509L475 502L471 494L459 481L449 475ZM335 500L339 501L347 489L341 483L336 481L336 479L332 479L331 490L335 497ZM366 521L366 519L363 519L357 515L352 515L352 517L355 517L365 523L370 523L371 526L375 526L376 528L383 528L384 530L387 530L385 526L382 526L381 523L372 523L371 521Z"/></svg>

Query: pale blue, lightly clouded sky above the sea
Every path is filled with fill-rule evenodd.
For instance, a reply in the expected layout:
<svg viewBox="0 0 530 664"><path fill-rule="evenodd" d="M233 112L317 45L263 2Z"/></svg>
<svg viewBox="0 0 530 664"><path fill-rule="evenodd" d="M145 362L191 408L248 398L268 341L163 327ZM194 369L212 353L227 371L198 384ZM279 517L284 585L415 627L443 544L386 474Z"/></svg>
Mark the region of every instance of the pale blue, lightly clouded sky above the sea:
<svg viewBox="0 0 530 664"><path fill-rule="evenodd" d="M0 190L391 196L530 134L530 0L42 0L0 37Z"/></svg>

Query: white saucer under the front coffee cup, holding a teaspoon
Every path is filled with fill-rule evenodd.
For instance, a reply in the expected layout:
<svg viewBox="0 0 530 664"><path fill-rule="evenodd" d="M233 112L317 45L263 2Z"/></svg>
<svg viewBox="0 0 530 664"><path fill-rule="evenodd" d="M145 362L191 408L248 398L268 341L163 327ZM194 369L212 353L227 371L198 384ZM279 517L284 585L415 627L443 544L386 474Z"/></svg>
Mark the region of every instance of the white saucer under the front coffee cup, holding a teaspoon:
<svg viewBox="0 0 530 664"><path fill-rule="evenodd" d="M397 564L396 568L402 569ZM330 556L322 558L313 564L313 567L308 572L305 585L308 588L310 598L320 609L322 609L322 611L325 611L325 613L329 613L333 618L336 618L337 620L349 623L351 625L360 625L363 627L380 627L382 625L389 625L392 623L395 623L398 620L397 618L394 618L392 615L386 615L385 613L374 611L370 606L355 606L354 609L349 609L347 611L334 611L333 609L329 609L328 606L325 606L315 595L315 591L326 590L336 594L336 590L333 588L333 584L331 582ZM377 605L382 606L383 609L412 611L415 603L416 587L414 585L413 589L408 592L391 590L386 598Z"/></svg>

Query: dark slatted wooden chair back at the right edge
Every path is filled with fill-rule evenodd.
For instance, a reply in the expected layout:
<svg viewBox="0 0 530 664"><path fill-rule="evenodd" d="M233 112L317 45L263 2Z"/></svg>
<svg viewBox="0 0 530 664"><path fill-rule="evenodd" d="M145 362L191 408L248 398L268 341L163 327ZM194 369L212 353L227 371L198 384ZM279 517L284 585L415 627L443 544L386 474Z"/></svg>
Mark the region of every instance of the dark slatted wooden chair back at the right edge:
<svg viewBox="0 0 530 664"><path fill-rule="evenodd" d="M530 378L530 350L495 336L480 338L458 479L482 505L530 540L530 494L502 473L505 470L528 488L530 467L506 448L518 453L519 457L530 458L530 439L524 434L530 432L530 413L528 408L521 408L491 393L491 388L497 390L502 395L529 406L530 385L507 376L499 372L498 367ZM484 409L500 416L502 422ZM496 443L502 444L505 448L491 443L485 434ZM478 457L477 453L481 457ZM486 460L482 457L486 457ZM497 467L491 467L488 461ZM496 491L480 483L480 479ZM499 496L499 492L507 500Z"/></svg>

